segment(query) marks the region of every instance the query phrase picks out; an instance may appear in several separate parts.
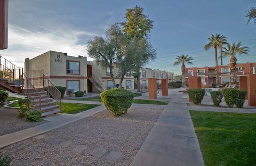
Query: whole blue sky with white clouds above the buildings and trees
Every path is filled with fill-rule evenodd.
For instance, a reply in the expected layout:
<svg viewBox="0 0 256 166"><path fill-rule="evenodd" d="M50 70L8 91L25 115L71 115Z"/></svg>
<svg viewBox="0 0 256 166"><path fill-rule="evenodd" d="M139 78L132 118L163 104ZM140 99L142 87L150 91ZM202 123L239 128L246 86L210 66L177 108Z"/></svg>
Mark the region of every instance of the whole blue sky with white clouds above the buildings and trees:
<svg viewBox="0 0 256 166"><path fill-rule="evenodd" d="M247 25L244 17L256 0L10 0L8 49L0 54L19 67L25 58L49 50L88 57L88 40L104 37L111 24L124 22L126 8L135 5L154 21L150 40L157 56L145 67L180 74L180 65L173 63L182 54L194 58L186 67L214 66L214 52L204 45L216 33L250 47L249 55L237 56L238 63L256 62L256 25Z"/></svg>

